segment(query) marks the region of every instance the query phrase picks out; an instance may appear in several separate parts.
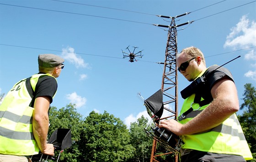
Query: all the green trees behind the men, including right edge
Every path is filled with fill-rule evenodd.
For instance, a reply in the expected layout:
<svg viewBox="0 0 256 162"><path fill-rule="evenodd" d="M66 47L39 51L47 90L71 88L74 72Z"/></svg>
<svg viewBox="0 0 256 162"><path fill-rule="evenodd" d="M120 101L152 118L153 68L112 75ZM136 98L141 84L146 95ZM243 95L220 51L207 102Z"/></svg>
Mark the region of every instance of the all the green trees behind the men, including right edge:
<svg viewBox="0 0 256 162"><path fill-rule="evenodd" d="M238 115L240 124L256 162L256 89L245 84L244 103ZM0 96L0 101L3 95ZM72 133L72 147L60 153L59 162L149 162L153 139L144 132L148 119L140 117L130 127L122 120L105 111L102 114L92 111L83 118L76 111L74 104L60 108L51 107L49 111L49 137L58 128L69 128ZM158 146L159 147L159 146ZM161 151L161 147L157 150ZM160 154L166 153L165 150ZM48 162L56 162L59 151L55 151L55 160L49 157ZM173 155L157 158L159 162L174 162Z"/></svg>

